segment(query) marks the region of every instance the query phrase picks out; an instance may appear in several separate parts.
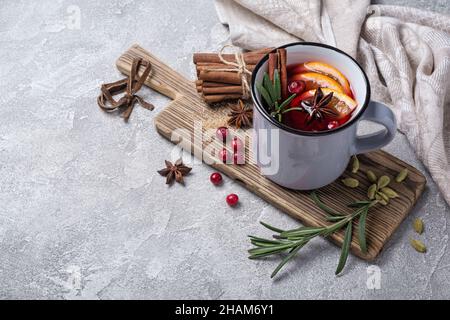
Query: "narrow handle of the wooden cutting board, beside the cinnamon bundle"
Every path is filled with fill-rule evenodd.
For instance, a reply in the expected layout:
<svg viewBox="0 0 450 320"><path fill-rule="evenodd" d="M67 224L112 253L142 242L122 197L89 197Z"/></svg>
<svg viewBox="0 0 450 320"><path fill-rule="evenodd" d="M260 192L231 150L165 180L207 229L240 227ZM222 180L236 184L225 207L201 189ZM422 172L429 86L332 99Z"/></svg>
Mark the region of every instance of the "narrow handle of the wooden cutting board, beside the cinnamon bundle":
<svg viewBox="0 0 450 320"><path fill-rule="evenodd" d="M145 85L153 90L173 100L185 95L197 95L195 84L192 81L183 77L138 44L131 46L117 59L116 65L119 71L129 75L134 58L142 58L152 64L152 71L145 80ZM140 72L143 72L143 68Z"/></svg>

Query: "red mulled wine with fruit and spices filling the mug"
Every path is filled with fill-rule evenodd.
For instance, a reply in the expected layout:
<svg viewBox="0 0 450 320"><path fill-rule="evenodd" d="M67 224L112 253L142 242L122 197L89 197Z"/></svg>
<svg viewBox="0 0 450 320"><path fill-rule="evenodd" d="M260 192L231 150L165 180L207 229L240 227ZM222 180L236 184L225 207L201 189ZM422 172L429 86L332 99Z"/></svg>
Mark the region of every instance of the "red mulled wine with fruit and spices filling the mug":
<svg viewBox="0 0 450 320"><path fill-rule="evenodd" d="M291 64L280 71L270 70L273 65L282 66L271 63L269 57L269 74L258 90L276 120L297 130L326 131L351 118L358 104L338 69L320 61Z"/></svg>

